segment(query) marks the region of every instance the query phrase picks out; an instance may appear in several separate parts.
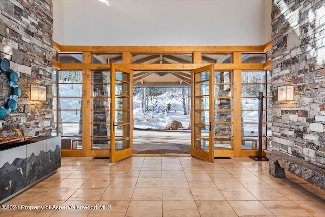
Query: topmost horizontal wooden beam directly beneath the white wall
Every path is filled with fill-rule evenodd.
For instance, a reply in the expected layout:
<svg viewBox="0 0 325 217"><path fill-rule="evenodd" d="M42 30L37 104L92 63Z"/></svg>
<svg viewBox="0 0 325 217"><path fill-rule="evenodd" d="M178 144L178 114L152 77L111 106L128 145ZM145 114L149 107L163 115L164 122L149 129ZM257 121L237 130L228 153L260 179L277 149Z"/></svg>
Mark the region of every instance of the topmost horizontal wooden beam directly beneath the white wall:
<svg viewBox="0 0 325 217"><path fill-rule="evenodd" d="M75 46L61 45L61 52L131 52L131 53L231 53L231 52L263 52L264 46Z"/></svg>

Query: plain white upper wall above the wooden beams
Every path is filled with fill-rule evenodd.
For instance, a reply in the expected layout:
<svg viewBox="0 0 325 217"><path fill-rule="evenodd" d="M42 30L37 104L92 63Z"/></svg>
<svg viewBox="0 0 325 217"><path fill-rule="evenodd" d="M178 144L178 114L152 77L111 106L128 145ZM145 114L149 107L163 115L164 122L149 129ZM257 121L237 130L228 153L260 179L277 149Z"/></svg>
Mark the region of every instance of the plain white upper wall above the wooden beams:
<svg viewBox="0 0 325 217"><path fill-rule="evenodd" d="M271 0L52 0L61 45L264 45ZM265 24L268 25L265 25Z"/></svg>

